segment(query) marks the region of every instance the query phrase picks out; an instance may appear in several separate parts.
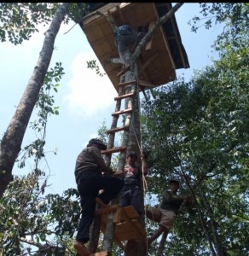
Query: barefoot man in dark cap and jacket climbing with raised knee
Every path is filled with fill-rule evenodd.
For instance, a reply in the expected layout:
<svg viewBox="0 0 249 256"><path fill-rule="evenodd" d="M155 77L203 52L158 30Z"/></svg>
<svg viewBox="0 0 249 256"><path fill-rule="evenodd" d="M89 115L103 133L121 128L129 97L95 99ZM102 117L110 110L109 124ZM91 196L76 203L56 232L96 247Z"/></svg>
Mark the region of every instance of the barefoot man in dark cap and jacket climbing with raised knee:
<svg viewBox="0 0 249 256"><path fill-rule="evenodd" d="M101 156L101 150L107 146L98 139L91 139L76 160L75 178L80 195L82 214L78 224L78 233L74 248L82 256L89 255L84 243L90 240L90 224L96 211L96 201L107 205L119 194L124 181L114 177L113 171L106 165ZM99 195L99 191L104 191Z"/></svg>

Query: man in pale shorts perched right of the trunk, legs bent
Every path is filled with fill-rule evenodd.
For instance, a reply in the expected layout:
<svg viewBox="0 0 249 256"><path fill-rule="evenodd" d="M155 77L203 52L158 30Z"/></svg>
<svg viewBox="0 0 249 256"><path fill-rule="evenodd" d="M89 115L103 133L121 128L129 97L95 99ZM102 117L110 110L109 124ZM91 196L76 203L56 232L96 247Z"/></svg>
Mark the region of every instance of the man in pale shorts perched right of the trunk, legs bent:
<svg viewBox="0 0 249 256"><path fill-rule="evenodd" d="M148 247L163 232L166 232L167 234L170 232L182 203L192 201L191 195L186 195L184 197L177 195L179 187L180 183L177 180L171 180L170 190L165 190L162 194L161 206L159 208L150 208L146 210L146 216L159 223L158 230L155 231L153 236L148 237Z"/></svg>

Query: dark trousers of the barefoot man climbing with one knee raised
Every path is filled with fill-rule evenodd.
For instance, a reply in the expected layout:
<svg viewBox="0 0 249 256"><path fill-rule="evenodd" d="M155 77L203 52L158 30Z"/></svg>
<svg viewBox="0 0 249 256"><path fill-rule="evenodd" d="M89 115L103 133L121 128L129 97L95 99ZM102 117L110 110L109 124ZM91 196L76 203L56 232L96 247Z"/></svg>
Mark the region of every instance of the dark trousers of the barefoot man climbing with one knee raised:
<svg viewBox="0 0 249 256"><path fill-rule="evenodd" d="M84 172L78 180L78 192L82 207L81 218L78 224L77 241L87 242L90 239L90 224L96 211L96 197L108 204L119 194L124 181L112 175L101 175L94 172ZM104 192L99 195L99 190Z"/></svg>

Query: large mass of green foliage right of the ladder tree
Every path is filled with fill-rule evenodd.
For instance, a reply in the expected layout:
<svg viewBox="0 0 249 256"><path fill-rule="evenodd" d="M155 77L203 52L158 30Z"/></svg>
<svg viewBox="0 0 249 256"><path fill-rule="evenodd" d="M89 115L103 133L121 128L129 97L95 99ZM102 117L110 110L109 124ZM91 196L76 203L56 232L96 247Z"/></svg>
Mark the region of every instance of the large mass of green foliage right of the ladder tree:
<svg viewBox="0 0 249 256"><path fill-rule="evenodd" d="M196 199L196 207L178 217L167 255L248 252L249 45L244 39L240 47L223 49L222 58L189 83L168 84L143 102L150 192L158 195L175 176L182 180L182 194L189 190Z"/></svg>

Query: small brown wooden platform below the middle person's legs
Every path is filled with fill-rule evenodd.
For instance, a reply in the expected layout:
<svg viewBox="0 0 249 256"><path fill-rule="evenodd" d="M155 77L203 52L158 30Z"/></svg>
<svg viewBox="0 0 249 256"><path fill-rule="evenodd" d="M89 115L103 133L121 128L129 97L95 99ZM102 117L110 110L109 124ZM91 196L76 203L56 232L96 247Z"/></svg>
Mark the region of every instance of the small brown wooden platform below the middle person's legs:
<svg viewBox="0 0 249 256"><path fill-rule="evenodd" d="M114 210L116 209L116 210ZM115 211L113 222L115 225L114 241L121 247L125 248L125 241L131 239L142 239L142 241L147 241L147 233L143 225L139 222L139 215L134 209L134 207L116 207L111 206L110 211ZM101 232L105 232L107 226L107 209L102 212L101 217Z"/></svg>

